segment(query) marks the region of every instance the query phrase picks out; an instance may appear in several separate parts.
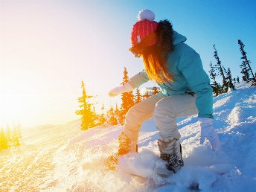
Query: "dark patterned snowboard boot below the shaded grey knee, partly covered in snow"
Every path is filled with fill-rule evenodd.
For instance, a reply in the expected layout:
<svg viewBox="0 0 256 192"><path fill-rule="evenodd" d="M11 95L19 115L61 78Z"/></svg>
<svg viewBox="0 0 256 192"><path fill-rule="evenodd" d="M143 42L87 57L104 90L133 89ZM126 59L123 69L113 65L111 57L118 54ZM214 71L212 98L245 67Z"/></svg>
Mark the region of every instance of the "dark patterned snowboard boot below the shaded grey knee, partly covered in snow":
<svg viewBox="0 0 256 192"><path fill-rule="evenodd" d="M169 141L159 139L160 160L156 162L155 171L161 176L171 176L177 173L184 162L182 160L182 145L179 139Z"/></svg>

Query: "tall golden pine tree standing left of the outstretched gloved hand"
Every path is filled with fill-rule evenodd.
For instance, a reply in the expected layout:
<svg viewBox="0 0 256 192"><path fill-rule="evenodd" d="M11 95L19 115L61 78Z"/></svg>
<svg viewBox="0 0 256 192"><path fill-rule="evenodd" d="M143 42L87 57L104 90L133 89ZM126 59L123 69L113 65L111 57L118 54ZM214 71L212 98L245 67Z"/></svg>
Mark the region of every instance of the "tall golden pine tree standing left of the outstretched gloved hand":
<svg viewBox="0 0 256 192"><path fill-rule="evenodd" d="M92 111L92 104L89 103L88 99L93 96L86 94L86 89L82 80L81 87L83 89L83 95L78 97L77 100L80 104L80 110L76 111L77 115L82 115L81 118L81 129L86 130L89 127L95 127L95 112Z"/></svg>

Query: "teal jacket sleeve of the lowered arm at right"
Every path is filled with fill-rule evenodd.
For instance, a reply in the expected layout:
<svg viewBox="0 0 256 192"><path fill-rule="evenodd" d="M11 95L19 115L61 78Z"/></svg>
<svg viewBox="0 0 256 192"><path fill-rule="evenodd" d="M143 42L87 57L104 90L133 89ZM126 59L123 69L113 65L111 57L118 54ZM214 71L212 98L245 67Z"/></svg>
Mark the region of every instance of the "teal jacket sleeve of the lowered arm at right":
<svg viewBox="0 0 256 192"><path fill-rule="evenodd" d="M202 67L199 54L186 44L182 44L179 55L179 70L188 81L188 87L196 94L199 118L213 117L213 95L208 74Z"/></svg>

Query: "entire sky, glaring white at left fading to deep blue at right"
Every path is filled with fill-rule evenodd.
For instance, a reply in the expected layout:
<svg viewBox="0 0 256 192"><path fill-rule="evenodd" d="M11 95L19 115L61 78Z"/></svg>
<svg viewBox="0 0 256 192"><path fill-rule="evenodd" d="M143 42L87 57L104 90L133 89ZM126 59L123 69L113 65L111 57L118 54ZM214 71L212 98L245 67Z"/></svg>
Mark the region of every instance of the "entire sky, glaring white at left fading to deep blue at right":
<svg viewBox="0 0 256 192"><path fill-rule="evenodd" d="M108 92L120 85L124 67L129 77L143 69L128 49L144 8L187 36L205 71L216 63L215 44L225 68L241 77L238 39L256 71L256 1L0 0L0 127L77 120L81 80L97 95L97 112L120 103Z"/></svg>

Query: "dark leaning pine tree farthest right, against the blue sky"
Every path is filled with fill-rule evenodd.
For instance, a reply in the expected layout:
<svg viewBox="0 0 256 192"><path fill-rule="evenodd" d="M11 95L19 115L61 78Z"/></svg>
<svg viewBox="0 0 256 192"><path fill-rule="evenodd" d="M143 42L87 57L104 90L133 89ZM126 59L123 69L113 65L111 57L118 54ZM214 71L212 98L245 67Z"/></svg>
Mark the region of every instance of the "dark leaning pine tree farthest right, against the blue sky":
<svg viewBox="0 0 256 192"><path fill-rule="evenodd" d="M240 45L240 52L242 54L241 60L243 60L240 67L242 68L241 73L243 74L243 80L246 82L252 82L252 86L256 86L256 75L253 74L252 68L250 63L252 63L250 60L247 59L246 51L244 51L244 45L243 42L239 39L238 44ZM250 77L250 74L252 74L252 78Z"/></svg>

